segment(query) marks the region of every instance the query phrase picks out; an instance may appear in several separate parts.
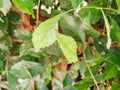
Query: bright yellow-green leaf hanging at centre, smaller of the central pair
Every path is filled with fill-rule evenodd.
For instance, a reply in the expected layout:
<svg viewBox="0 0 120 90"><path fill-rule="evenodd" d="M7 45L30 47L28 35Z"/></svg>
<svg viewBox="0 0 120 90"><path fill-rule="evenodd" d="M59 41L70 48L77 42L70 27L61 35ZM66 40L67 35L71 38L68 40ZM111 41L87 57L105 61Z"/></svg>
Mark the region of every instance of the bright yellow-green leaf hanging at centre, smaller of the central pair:
<svg viewBox="0 0 120 90"><path fill-rule="evenodd" d="M78 61L77 58L77 44L74 41L74 39L70 36L65 36L60 33L56 33L57 35L57 41L58 44L63 52L63 54L66 56L67 60L69 62L76 62Z"/></svg>

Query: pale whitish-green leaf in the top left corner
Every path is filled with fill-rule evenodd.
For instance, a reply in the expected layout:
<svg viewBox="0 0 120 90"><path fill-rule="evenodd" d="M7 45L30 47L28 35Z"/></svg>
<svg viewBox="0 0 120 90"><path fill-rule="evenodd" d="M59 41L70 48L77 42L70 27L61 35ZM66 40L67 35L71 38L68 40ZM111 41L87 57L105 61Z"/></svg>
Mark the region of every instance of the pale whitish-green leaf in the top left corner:
<svg viewBox="0 0 120 90"><path fill-rule="evenodd" d="M1 1L1 0L0 0ZM0 11L6 15L8 13L8 11L10 10L12 4L10 0L3 0L3 6L0 7ZM1 3L1 2L0 2Z"/></svg>

